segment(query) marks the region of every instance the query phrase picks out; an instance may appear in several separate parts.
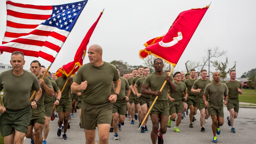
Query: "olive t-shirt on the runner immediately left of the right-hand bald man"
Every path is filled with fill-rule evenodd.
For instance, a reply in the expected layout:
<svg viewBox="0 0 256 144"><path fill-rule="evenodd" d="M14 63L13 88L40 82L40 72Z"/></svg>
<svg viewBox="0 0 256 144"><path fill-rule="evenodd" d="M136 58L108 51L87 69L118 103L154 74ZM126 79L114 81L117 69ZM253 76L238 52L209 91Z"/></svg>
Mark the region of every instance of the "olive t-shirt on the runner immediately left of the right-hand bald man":
<svg viewBox="0 0 256 144"><path fill-rule="evenodd" d="M195 90L198 88L201 88L200 93L196 93L197 97L203 98L204 92L205 92L205 87L207 84L212 83L211 80L206 79L203 81L202 79L198 79L194 82L193 87Z"/></svg>

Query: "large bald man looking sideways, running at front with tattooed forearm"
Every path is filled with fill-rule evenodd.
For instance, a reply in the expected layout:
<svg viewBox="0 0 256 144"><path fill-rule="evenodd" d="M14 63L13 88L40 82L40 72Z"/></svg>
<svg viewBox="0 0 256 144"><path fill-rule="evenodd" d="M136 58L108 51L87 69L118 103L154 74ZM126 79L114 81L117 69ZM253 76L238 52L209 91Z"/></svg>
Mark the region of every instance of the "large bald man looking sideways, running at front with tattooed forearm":
<svg viewBox="0 0 256 144"><path fill-rule="evenodd" d="M116 67L102 60L102 48L92 45L88 49L90 63L82 65L71 85L71 91L83 91L81 104L81 127L86 143L95 143L96 125L99 143L108 143L112 120L112 104L119 97L121 80ZM113 85L110 81L113 81ZM114 94L111 87L114 86Z"/></svg>

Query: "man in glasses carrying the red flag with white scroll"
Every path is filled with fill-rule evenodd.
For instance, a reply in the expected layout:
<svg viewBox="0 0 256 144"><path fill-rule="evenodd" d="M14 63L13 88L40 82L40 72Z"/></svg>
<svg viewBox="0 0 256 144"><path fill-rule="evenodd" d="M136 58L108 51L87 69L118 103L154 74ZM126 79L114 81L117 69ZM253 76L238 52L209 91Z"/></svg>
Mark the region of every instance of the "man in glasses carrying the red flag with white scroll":
<svg viewBox="0 0 256 144"><path fill-rule="evenodd" d="M152 121L152 131L151 131L151 140L152 143L164 143L163 134L166 133L166 127L169 116L169 102L168 102L168 87L170 86L171 91L176 92L176 86L172 82L172 76L169 76L166 72L163 72L163 60L155 59L154 65L155 72L148 75L141 87L141 93L145 95L151 95L150 106L152 105L156 96L159 96L156 100L151 112L149 113ZM166 84L161 90L164 82ZM150 88L150 90L148 90ZM160 118L160 129L159 129L159 118ZM159 129L159 130L158 130Z"/></svg>

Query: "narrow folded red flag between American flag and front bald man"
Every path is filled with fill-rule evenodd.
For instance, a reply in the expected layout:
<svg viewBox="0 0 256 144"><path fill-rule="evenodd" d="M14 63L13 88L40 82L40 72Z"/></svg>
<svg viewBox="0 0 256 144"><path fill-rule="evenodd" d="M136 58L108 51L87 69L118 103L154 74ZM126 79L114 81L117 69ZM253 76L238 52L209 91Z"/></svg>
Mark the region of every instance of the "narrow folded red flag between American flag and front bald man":
<svg viewBox="0 0 256 144"><path fill-rule="evenodd" d="M76 64L77 66L74 69L74 71L72 72L72 75L74 75L78 71L78 69L81 67L81 65L83 65L83 59L86 54L86 46L88 45L90 37L92 35L92 32L94 31L96 25L98 24L98 21L100 20L100 17L102 14L103 14L103 12L100 13L100 16L98 17L98 19L91 26L91 28L87 32L86 36L83 38L83 41L81 42L79 48L77 49L76 55L74 57L74 61L70 62L66 65L63 65L62 68L59 68L58 71L55 73L55 75L57 77L62 76L61 73L65 74L68 77L68 75L70 75L70 72L72 71L72 69L74 68L74 66Z"/></svg>

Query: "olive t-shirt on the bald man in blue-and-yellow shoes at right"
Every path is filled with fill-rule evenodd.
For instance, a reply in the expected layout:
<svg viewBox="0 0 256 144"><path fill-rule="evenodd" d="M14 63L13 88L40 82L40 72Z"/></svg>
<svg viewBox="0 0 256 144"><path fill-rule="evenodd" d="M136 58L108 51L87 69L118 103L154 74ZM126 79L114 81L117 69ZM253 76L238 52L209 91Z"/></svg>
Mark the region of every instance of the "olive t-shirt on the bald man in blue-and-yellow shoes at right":
<svg viewBox="0 0 256 144"><path fill-rule="evenodd" d="M204 93L209 94L208 102L214 105L223 104L223 95L228 95L228 87L225 83L220 83L216 85L211 82L206 85Z"/></svg>

